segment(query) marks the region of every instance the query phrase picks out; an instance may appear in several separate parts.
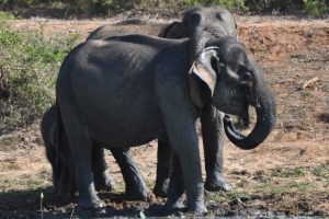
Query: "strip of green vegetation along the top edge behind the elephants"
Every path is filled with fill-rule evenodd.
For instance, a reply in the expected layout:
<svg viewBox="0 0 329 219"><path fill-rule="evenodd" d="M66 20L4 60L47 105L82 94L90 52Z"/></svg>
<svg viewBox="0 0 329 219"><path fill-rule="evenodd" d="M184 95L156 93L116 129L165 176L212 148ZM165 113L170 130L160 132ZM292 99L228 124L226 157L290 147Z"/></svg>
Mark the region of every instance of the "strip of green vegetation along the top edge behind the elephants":
<svg viewBox="0 0 329 219"><path fill-rule="evenodd" d="M132 9L170 11L173 8L183 9L196 4L222 4L239 13L304 12L315 18L328 16L329 10L327 0L4 0L0 3L0 9L1 7L61 5L67 11L109 15Z"/></svg>

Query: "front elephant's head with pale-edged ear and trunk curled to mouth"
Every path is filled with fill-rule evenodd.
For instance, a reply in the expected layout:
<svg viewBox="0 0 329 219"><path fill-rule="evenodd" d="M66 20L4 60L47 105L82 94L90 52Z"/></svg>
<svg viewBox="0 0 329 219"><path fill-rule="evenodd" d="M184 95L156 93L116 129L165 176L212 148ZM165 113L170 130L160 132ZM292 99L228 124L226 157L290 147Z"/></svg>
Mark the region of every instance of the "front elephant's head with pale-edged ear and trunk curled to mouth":
<svg viewBox="0 0 329 219"><path fill-rule="evenodd" d="M191 100L201 110L211 101L217 110L237 115L248 125L249 106L256 108L257 123L247 137L235 128L228 115L225 116L226 136L237 147L253 149L273 129L275 103L264 73L256 61L248 58L236 39L222 37L208 41L191 68L189 84Z"/></svg>

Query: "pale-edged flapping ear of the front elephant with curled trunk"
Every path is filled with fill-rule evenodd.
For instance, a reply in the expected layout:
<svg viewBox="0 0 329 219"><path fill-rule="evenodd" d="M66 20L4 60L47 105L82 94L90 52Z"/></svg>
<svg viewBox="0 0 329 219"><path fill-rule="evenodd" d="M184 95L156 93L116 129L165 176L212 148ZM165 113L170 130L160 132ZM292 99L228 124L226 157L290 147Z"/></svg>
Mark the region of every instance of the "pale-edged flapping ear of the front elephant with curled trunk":
<svg viewBox="0 0 329 219"><path fill-rule="evenodd" d="M217 57L218 47L206 47L203 49L196 60L193 61L189 71L188 80L190 87L190 96L192 103L202 108L207 100L214 94L217 73L213 68L213 61L219 62ZM206 85L208 92L205 92L204 85ZM205 95L205 93L207 93Z"/></svg>

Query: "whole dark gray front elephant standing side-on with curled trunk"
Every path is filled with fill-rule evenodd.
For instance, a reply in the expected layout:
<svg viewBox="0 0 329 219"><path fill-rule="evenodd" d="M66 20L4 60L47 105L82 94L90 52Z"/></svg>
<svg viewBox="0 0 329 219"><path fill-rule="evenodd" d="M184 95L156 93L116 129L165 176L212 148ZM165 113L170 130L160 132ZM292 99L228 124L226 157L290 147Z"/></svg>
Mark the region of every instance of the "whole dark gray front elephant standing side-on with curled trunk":
<svg viewBox="0 0 329 219"><path fill-rule="evenodd" d="M186 189L188 210L205 212L195 125L203 106L245 122L249 105L256 107L257 124L247 137L226 118L227 134L245 150L271 132L273 95L241 45L234 38L209 41L194 61L189 45L189 39L127 35L87 41L66 57L56 97L77 166L79 207L103 206L92 177L93 147L170 143L174 158L166 206L180 206Z"/></svg>

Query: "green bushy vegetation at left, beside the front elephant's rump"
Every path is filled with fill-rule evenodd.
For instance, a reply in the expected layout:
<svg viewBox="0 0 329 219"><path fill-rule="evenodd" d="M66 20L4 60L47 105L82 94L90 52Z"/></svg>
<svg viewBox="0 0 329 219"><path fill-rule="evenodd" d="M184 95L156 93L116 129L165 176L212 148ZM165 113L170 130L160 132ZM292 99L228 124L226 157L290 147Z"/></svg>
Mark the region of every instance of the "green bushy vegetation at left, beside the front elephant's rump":
<svg viewBox="0 0 329 219"><path fill-rule="evenodd" d="M42 30L14 32L5 21L0 23L1 126L14 128L41 118L54 103L59 66L77 39L46 41Z"/></svg>

